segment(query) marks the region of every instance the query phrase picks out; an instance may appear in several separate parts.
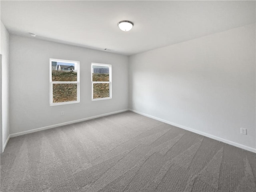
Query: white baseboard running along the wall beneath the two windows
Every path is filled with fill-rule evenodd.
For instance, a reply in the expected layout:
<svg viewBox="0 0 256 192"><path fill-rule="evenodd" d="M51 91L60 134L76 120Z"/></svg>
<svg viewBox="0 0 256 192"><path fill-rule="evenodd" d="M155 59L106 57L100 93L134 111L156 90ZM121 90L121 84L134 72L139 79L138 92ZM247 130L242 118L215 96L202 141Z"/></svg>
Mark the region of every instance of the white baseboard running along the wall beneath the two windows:
<svg viewBox="0 0 256 192"><path fill-rule="evenodd" d="M90 119L95 119L95 118L99 118L99 117L103 117L103 116L108 116L108 115L112 115L112 114L116 114L116 113L125 112L125 111L129 111L129 109L115 111L115 112L106 113L106 114L102 114L102 115L96 115L96 116L92 116L92 117L88 117L88 118L84 118L84 119L78 119L78 120L74 120L74 121L59 123L59 124L50 125L50 126L46 126L46 127L36 128L36 129L28 130L28 131L22 131L22 132L10 134L10 137L16 137L16 136L20 136L20 135L24 135L24 134L34 133L34 132L38 132L38 131L42 131L42 130L46 130L46 129L50 129L50 128L60 127L60 126L68 125L68 124L82 122L82 121L86 121L86 120L90 120ZM7 142L6 142L6 144L7 144Z"/></svg>

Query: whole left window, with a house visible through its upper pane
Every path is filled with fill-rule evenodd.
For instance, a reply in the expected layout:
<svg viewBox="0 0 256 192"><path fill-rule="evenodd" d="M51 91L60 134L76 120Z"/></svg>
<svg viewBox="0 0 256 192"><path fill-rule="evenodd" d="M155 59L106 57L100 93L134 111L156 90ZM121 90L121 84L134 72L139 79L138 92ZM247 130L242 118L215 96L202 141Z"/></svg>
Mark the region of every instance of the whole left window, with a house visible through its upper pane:
<svg viewBox="0 0 256 192"><path fill-rule="evenodd" d="M69 68L74 70L69 71ZM77 102L79 102L79 62L50 59L50 105Z"/></svg>

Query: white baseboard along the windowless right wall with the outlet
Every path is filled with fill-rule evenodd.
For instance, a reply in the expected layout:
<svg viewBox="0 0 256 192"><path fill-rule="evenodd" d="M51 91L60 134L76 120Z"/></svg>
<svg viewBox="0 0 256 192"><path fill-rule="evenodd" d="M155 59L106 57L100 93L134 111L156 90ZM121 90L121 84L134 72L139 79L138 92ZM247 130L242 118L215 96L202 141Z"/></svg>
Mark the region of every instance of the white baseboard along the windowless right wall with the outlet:
<svg viewBox="0 0 256 192"><path fill-rule="evenodd" d="M136 111L136 110L130 109L130 111L135 112L135 113L138 113L138 114L143 115L143 116L146 116L146 117L149 117L149 118L152 118L152 119L155 119L155 120L158 120L158 121L161 121L161 122L164 122L164 123L167 123L167 124L170 124L170 125L173 125L173 126L176 126L176 127L178 127L178 128L182 128L182 129L185 129L185 130L188 130L188 131L191 131L191 132L200 134L200 135L202 135L202 136L206 136L206 137L208 137L208 138L211 138L211 139L214 139L214 140L217 140L217 141L221 141L221 142L224 142L224 143L226 143L226 144L230 144L230 145L232 145L232 146L236 146L236 147L238 147L238 148L241 148L241 149L244 149L244 150L247 150L247 151L256 153L256 148L248 147L248 146L245 146L245 145L242 145L242 144L239 144L239 143L230 141L230 140L226 140L226 139L223 139L223 138L220 138L220 137L217 137L217 136L214 136L214 135L211 135L211 134L202 132L202 131L198 131L198 130L195 130L195 129L192 129L192 128L188 128L188 127L186 127L186 126L179 125L179 124L176 124L176 123L173 123L173 122L170 122L170 121L166 121L166 120L164 120L164 119L160 119L160 118L157 118L157 117L148 115L148 114L144 114L144 113L138 112L138 111Z"/></svg>

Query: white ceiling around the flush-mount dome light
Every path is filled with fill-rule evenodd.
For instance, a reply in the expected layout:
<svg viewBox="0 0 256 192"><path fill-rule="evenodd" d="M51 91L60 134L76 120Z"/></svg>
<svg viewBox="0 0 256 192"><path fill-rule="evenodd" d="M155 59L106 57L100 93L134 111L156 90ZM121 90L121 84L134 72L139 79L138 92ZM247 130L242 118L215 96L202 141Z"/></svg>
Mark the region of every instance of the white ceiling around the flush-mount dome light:
<svg viewBox="0 0 256 192"><path fill-rule="evenodd" d="M252 24L255 12L255 1L1 0L12 34L126 55ZM134 22L132 30L121 31L121 20Z"/></svg>

